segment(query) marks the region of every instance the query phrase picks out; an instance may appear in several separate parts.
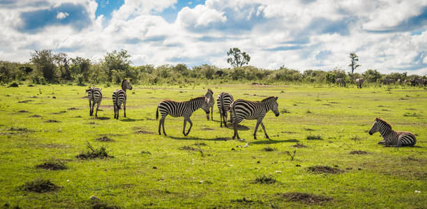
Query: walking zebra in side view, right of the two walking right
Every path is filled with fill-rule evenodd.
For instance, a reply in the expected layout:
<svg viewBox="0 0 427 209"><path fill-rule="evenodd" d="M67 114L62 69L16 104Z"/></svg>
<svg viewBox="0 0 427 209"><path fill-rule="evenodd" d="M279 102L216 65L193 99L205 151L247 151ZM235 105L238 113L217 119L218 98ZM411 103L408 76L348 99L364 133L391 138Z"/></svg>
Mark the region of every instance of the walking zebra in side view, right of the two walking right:
<svg viewBox="0 0 427 209"><path fill-rule="evenodd" d="M262 130L264 130L265 137L269 138L267 132L265 132L264 124L262 123L262 118L267 114L271 109L274 114L279 116L277 97L265 98L261 102L252 102L248 100L235 100L230 105L230 112L233 116L233 126L234 126L234 136L237 139L240 139L239 133L237 132L237 124L239 124L243 119L248 120L257 120L257 125L255 125L255 132L253 132L253 139L257 139L257 129L261 124Z"/></svg>

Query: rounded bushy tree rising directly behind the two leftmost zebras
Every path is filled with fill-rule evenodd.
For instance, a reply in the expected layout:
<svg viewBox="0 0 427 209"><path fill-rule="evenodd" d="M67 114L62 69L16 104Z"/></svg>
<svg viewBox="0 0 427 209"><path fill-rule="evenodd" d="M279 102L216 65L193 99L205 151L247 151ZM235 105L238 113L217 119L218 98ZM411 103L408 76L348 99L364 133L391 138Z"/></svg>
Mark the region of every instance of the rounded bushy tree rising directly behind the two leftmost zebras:
<svg viewBox="0 0 427 209"><path fill-rule="evenodd" d="M120 52L116 50L107 52L103 61L107 73L107 82L113 82L113 74L116 79L119 79L114 81L116 83L121 82L123 79L121 76L128 75L129 65L132 63L129 58L130 54L124 49L121 49Z"/></svg>

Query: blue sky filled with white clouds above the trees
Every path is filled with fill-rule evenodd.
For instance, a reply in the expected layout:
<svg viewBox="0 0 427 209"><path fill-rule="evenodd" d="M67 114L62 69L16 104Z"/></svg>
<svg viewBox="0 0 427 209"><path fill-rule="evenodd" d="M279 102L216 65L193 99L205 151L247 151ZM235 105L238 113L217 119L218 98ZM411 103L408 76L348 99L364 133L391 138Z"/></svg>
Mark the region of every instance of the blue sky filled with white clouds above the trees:
<svg viewBox="0 0 427 209"><path fill-rule="evenodd" d="M126 49L133 65L229 67L239 47L250 65L297 70L427 74L427 1L0 0L0 60L53 49L98 61Z"/></svg>

